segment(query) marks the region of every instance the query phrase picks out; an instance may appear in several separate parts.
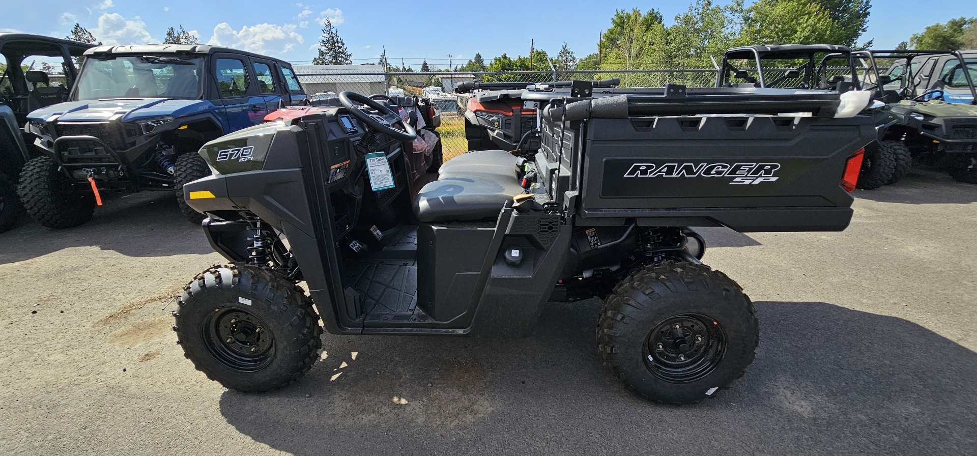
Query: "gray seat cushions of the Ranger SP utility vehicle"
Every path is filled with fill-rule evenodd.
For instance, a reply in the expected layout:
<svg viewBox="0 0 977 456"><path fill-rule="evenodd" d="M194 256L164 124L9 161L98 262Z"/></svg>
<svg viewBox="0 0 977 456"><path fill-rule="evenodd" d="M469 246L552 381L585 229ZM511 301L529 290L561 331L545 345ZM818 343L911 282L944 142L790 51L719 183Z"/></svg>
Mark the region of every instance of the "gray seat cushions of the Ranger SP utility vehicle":
<svg viewBox="0 0 977 456"><path fill-rule="evenodd" d="M479 150L442 165L438 180L417 193L414 212L428 223L494 219L506 201L522 193L516 157L505 150Z"/></svg>

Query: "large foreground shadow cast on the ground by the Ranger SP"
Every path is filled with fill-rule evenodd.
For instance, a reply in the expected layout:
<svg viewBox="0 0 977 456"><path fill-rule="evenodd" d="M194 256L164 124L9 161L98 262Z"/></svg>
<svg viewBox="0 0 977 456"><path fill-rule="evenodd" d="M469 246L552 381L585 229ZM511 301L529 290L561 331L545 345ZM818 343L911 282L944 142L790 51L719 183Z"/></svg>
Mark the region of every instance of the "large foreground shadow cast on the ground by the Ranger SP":
<svg viewBox="0 0 977 456"><path fill-rule="evenodd" d="M297 384L226 392L221 412L297 455L949 455L977 443L977 354L904 319L757 303L746 376L676 407L635 397L604 369L599 305L548 306L526 339L327 335L328 357Z"/></svg>

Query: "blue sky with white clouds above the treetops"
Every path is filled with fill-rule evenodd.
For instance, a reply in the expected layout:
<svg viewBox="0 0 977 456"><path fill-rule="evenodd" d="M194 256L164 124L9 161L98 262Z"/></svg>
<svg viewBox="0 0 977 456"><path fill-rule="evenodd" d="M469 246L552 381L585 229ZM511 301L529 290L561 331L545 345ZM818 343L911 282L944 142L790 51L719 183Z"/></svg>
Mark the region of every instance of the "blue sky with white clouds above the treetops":
<svg viewBox="0 0 977 456"><path fill-rule="evenodd" d="M106 44L140 44L157 43L167 27L183 25L201 43L302 62L315 56L311 48L319 42L319 23L330 18L355 62L376 62L386 46L391 62L404 58L417 68L420 59L427 59L446 67L448 54L461 63L476 52L487 61L501 53L527 55L531 38L537 49L551 54L567 42L583 57L596 50L598 34L616 9L657 8L668 24L693 1L47 0L38 8L33 2L0 0L0 31L64 36L77 21ZM926 8L919 4L874 0L862 40L874 38L876 49L892 48L927 25L977 16L972 0L927 0Z"/></svg>

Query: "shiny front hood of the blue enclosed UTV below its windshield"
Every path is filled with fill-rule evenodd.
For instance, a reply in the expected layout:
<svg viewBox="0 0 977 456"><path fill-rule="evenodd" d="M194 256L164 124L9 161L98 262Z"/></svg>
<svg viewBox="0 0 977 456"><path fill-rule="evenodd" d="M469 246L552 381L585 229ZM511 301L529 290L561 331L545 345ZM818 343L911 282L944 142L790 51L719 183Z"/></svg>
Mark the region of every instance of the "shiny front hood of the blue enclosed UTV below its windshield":
<svg viewBox="0 0 977 456"><path fill-rule="evenodd" d="M60 116L59 122L97 122L118 118L130 122L150 117L180 117L209 110L212 104L200 100L170 99L112 99L67 102L42 107L29 114L31 120L47 120L53 115Z"/></svg>

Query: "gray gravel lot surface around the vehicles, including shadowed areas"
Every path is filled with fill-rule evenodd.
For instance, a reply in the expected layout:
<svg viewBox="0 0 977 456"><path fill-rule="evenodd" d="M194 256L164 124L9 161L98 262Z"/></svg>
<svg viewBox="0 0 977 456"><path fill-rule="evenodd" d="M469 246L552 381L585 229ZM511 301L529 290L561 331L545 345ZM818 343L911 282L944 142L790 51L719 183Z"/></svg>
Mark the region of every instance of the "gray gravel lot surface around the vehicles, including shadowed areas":
<svg viewBox="0 0 977 456"><path fill-rule="evenodd" d="M27 224L0 234L0 453L973 454L977 187L913 171L858 196L844 232L701 230L761 340L682 407L604 369L596 300L526 339L323 335L297 384L230 392L174 344L172 297L222 258L170 194Z"/></svg>

